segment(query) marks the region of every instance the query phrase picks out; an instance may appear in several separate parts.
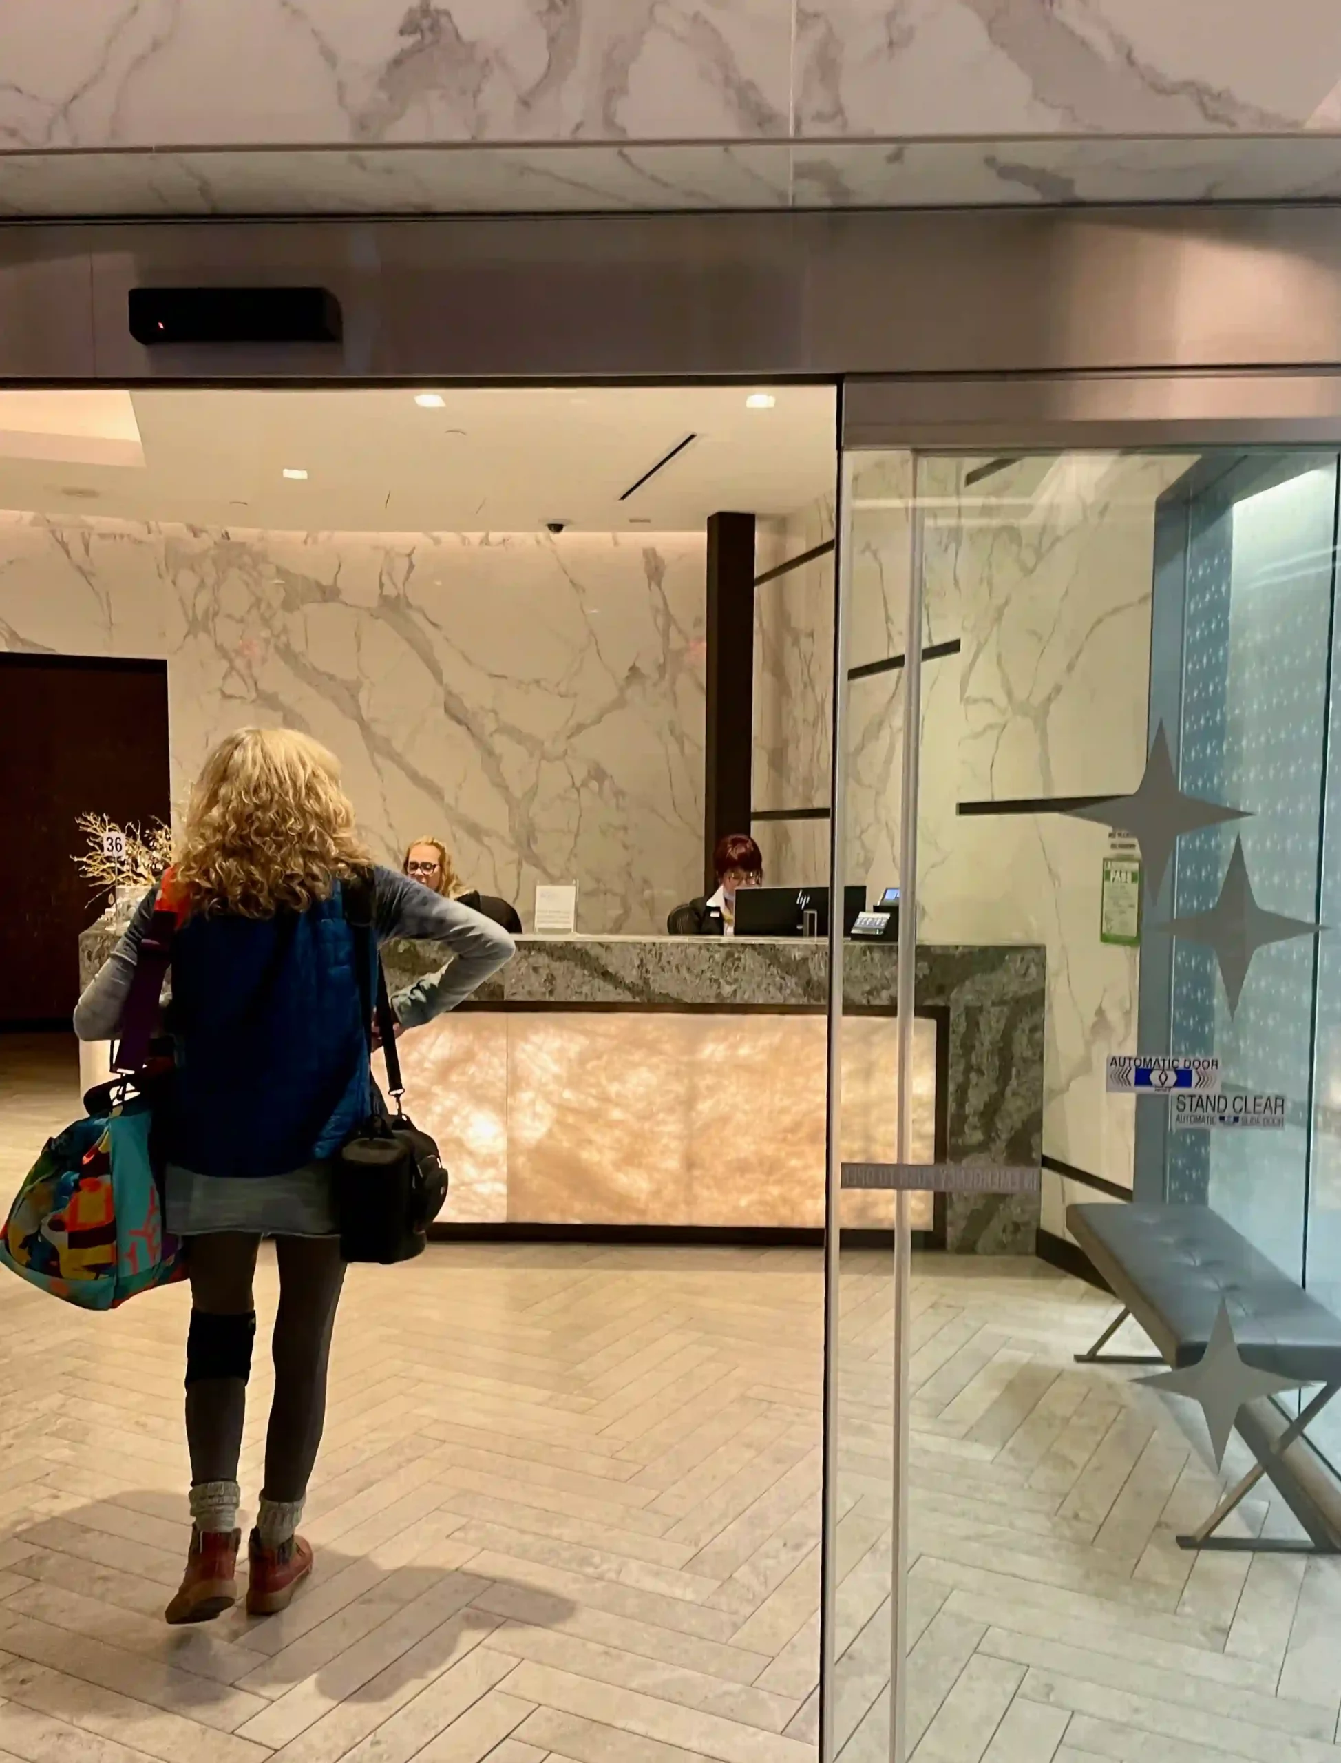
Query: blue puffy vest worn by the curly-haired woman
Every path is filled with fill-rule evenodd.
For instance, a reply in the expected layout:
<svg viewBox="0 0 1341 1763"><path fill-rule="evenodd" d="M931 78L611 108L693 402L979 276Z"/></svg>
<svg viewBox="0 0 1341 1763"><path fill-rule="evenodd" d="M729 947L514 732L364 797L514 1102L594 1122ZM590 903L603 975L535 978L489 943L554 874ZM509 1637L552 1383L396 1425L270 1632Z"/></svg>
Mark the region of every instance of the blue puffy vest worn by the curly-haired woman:
<svg viewBox="0 0 1341 1763"><path fill-rule="evenodd" d="M372 950L368 938L370 961ZM338 1151L370 1104L354 959L338 887L303 913L192 917L178 929L169 1162L278 1176Z"/></svg>

